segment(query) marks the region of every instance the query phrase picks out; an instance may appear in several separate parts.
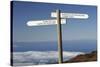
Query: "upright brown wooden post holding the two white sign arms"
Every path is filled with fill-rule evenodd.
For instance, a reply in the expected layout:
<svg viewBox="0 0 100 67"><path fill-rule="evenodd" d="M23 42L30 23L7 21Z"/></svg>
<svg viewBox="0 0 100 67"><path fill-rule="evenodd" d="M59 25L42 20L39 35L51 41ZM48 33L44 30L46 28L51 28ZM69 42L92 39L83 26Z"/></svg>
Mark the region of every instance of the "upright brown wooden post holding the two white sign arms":
<svg viewBox="0 0 100 67"><path fill-rule="evenodd" d="M58 35L58 63L63 63L63 49L62 49L62 31L61 31L61 18L60 18L60 10L56 10L57 13L57 35Z"/></svg>

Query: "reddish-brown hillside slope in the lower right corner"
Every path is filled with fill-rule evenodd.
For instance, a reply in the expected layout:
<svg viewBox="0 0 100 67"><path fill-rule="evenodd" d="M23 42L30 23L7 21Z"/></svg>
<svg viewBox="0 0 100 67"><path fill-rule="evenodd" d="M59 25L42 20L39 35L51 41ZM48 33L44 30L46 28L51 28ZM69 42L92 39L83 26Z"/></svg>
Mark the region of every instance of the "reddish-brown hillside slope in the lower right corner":
<svg viewBox="0 0 100 67"><path fill-rule="evenodd" d="M78 55L64 63L72 63L72 62L88 62L88 61L96 61L97 60L97 51L92 51L91 53L85 55Z"/></svg>

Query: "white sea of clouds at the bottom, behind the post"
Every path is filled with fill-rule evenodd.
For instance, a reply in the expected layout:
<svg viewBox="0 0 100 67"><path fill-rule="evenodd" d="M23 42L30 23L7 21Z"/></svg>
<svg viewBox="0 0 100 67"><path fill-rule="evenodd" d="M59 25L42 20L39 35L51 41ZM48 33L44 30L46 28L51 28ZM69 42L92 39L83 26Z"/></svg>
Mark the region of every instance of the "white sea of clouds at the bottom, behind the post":
<svg viewBox="0 0 100 67"><path fill-rule="evenodd" d="M67 61L83 52L68 52L63 51L63 61ZM57 63L57 51L27 51L27 52L14 52L13 65L14 66L28 66L38 64L52 64Z"/></svg>

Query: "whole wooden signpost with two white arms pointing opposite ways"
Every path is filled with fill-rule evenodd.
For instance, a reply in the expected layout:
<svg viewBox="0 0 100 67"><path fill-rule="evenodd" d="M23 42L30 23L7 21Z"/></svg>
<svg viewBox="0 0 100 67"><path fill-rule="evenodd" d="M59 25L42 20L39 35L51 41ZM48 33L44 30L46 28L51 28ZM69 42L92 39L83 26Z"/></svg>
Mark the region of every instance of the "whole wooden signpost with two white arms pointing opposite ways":
<svg viewBox="0 0 100 67"><path fill-rule="evenodd" d="M57 35L58 35L58 63L63 63L63 48L62 48L62 29L61 24L66 24L67 18L74 19L87 19L88 14L81 13L60 13L60 10L56 10L56 12L51 13L51 17L56 19L50 20L37 20L37 21L28 21L27 26L43 26L43 25L56 25L57 24Z"/></svg>

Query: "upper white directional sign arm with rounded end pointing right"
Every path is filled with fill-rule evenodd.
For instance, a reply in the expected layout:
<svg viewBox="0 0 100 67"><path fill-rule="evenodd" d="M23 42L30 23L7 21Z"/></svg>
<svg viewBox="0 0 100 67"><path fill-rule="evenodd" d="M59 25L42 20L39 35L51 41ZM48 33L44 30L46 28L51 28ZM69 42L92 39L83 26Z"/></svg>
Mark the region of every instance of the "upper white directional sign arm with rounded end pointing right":
<svg viewBox="0 0 100 67"><path fill-rule="evenodd" d="M81 13L60 13L60 14L61 18L87 19L89 17L88 14L81 14ZM52 12L51 17L57 17L57 13Z"/></svg>

